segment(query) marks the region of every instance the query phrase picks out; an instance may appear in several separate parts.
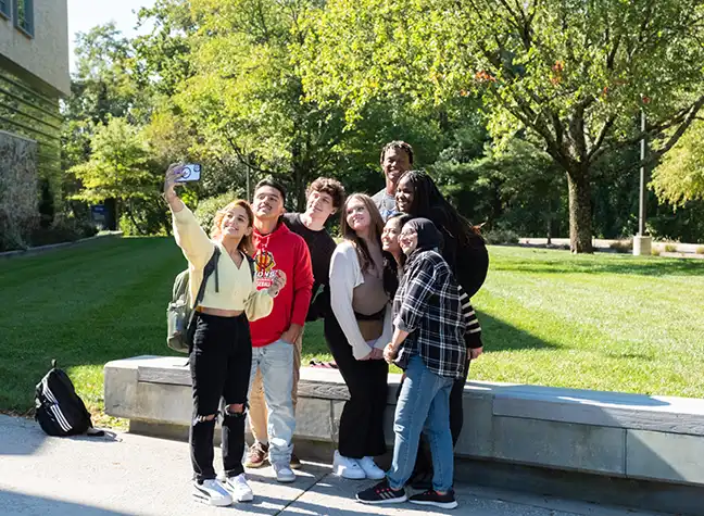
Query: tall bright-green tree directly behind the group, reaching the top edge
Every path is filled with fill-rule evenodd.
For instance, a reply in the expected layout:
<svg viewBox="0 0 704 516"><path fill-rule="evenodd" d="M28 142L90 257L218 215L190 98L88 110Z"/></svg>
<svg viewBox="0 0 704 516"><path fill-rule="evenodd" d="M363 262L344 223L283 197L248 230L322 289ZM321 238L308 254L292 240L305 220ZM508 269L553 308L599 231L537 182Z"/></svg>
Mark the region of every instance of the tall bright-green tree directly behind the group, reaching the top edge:
<svg viewBox="0 0 704 516"><path fill-rule="evenodd" d="M291 186L302 209L305 186L335 169L342 111L303 96L291 49L304 39L301 18L314 3L191 0L193 74L174 102L223 162Z"/></svg>

